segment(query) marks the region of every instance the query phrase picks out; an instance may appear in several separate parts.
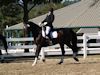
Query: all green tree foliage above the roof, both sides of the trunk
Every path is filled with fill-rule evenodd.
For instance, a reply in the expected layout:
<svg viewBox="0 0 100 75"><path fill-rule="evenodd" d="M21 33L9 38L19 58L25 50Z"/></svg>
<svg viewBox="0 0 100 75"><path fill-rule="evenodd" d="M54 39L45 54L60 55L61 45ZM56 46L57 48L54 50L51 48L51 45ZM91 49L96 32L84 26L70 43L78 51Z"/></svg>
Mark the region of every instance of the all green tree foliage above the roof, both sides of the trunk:
<svg viewBox="0 0 100 75"><path fill-rule="evenodd" d="M16 2L18 1L19 0L0 0L0 31L2 31L6 27L6 25L10 26L22 22L23 11L22 8L16 4ZM55 3L59 2L59 0L25 0L25 1L27 1L28 3L28 11L30 11L33 8L32 11L29 13L29 18L33 18L46 13L48 11L50 1L52 1L52 5L50 6L53 6L53 2Z"/></svg>

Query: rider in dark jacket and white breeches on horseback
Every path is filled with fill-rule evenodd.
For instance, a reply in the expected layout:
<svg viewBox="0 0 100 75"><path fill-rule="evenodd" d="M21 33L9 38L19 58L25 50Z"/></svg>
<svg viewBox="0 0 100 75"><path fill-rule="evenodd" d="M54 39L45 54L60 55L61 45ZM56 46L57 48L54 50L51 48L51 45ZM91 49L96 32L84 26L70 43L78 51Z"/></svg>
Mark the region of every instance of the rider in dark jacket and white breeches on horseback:
<svg viewBox="0 0 100 75"><path fill-rule="evenodd" d="M45 35L46 35L46 38L48 38L48 40L50 40L50 32L52 31L53 29L53 21L55 19L55 16L53 14L53 8L50 8L49 10L49 13L47 14L46 18L41 22L41 24L43 24L46 29L44 31Z"/></svg>

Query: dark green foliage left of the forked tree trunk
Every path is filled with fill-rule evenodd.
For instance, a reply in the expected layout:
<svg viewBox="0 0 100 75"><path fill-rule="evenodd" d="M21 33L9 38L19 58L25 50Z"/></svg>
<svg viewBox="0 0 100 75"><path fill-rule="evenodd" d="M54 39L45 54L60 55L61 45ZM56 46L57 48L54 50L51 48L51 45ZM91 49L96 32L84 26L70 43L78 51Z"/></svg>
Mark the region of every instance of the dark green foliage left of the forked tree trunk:
<svg viewBox="0 0 100 75"><path fill-rule="evenodd" d="M3 5L0 9L0 31L2 32L6 25L10 26L21 22L21 12L22 9L15 3Z"/></svg>

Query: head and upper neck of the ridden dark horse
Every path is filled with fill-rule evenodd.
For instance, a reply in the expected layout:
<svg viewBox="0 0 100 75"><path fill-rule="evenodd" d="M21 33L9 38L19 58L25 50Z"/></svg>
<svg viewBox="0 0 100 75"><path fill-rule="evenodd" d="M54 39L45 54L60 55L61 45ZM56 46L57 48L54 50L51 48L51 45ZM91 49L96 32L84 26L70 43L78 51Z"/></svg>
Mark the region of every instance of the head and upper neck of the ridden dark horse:
<svg viewBox="0 0 100 75"><path fill-rule="evenodd" d="M27 23L27 31L32 32L33 36L37 36L41 30L41 27L39 27L37 24L33 22Z"/></svg>

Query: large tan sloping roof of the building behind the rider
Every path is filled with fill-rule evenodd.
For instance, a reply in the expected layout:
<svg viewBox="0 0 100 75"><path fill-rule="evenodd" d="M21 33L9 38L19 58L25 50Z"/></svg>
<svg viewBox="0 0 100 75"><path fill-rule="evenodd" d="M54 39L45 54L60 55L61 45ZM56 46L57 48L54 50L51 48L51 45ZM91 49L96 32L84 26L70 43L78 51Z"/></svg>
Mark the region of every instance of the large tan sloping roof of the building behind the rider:
<svg viewBox="0 0 100 75"><path fill-rule="evenodd" d="M66 6L54 11L54 27L95 27L100 26L100 1L94 6L93 0L81 0L80 2ZM30 21L38 24L47 14L31 19ZM23 23L8 27L6 30L23 29Z"/></svg>

